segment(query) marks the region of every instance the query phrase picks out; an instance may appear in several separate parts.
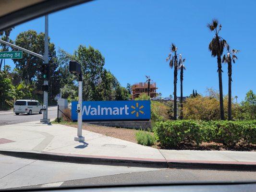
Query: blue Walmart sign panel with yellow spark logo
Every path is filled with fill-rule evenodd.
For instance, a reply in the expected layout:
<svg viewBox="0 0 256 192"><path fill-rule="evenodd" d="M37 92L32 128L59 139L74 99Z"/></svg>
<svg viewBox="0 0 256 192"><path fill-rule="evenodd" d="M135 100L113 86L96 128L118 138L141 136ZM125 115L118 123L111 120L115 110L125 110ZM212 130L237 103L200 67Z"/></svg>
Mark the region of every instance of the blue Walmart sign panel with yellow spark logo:
<svg viewBox="0 0 256 192"><path fill-rule="evenodd" d="M77 120L77 101L72 102L71 119ZM83 120L150 120L150 101L83 101Z"/></svg>

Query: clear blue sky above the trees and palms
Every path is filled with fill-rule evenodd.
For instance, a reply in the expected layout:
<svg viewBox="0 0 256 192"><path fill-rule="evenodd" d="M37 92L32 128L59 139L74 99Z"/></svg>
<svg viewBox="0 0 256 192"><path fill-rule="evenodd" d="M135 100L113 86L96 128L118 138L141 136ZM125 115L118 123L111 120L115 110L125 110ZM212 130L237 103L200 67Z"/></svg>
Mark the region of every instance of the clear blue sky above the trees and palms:
<svg viewBox="0 0 256 192"><path fill-rule="evenodd" d="M173 93L173 69L165 62L173 42L186 58L183 95L187 96L193 89L201 94L207 87L219 89L217 59L208 51L213 33L206 27L217 18L222 24L220 36L241 50L232 68L232 95L241 101L249 89L256 91L255 7L251 0L97 0L50 14L49 36L56 48L70 53L80 44L100 50L105 68L122 86L145 82L145 75L150 75L163 96ZM16 26L11 38L29 29L44 32L44 17ZM227 94L227 65L222 69ZM178 96L179 87L178 79Z"/></svg>

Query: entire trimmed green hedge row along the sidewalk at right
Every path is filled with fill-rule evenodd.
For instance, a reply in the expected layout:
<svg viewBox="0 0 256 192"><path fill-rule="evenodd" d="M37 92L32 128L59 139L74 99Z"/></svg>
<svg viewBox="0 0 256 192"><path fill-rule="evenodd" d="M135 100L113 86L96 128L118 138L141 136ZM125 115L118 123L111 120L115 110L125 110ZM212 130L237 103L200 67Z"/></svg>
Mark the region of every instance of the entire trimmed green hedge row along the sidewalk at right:
<svg viewBox="0 0 256 192"><path fill-rule="evenodd" d="M161 145L169 147L182 143L198 145L202 142L256 144L256 120L168 120L157 122L153 131Z"/></svg>

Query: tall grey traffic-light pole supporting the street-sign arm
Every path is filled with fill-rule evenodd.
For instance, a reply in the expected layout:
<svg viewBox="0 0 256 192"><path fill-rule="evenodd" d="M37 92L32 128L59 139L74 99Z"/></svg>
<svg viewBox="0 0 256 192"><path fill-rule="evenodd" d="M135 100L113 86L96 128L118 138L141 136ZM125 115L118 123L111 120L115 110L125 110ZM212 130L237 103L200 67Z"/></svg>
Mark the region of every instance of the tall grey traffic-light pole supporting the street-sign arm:
<svg viewBox="0 0 256 192"><path fill-rule="evenodd" d="M48 42L48 15L45 15L45 54L44 63L49 64L49 42ZM48 81L44 81L44 85L48 85ZM46 110L44 110L43 119L41 122L49 122L48 119L48 92L44 91L44 105L46 105Z"/></svg>

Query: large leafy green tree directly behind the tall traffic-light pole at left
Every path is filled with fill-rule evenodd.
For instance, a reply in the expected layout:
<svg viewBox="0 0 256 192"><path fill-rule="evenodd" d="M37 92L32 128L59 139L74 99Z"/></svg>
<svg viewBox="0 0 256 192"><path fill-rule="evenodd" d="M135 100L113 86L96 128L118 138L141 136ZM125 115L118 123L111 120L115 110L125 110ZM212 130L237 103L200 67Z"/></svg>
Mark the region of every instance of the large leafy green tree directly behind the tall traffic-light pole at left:
<svg viewBox="0 0 256 192"><path fill-rule="evenodd" d="M26 48L40 55L44 55L44 33L37 34L34 30L28 30L20 33L15 39L15 45ZM15 48L12 48L15 50ZM26 84L36 83L37 90L41 89L43 80L41 78L40 66L43 60L31 54L23 53L22 59L13 59L18 75L25 80ZM60 76L57 72L57 58L55 45L50 42L49 38L49 97L52 98L59 93L60 90Z"/></svg>

